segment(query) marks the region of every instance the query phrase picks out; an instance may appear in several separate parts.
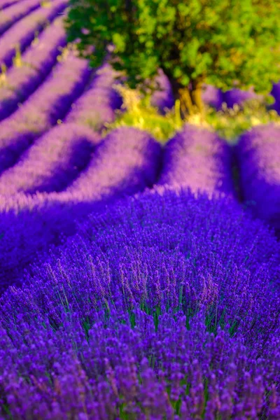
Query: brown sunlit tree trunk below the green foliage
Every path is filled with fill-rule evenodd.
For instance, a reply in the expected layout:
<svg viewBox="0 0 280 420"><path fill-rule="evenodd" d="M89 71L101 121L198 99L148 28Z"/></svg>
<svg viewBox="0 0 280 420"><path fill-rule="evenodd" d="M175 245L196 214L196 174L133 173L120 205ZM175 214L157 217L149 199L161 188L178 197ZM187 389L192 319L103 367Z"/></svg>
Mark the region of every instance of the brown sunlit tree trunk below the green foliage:
<svg viewBox="0 0 280 420"><path fill-rule="evenodd" d="M180 113L182 120L195 113L204 117L204 104L202 100L202 82L193 81L188 87L180 85L177 80L171 80L174 98L180 100Z"/></svg>

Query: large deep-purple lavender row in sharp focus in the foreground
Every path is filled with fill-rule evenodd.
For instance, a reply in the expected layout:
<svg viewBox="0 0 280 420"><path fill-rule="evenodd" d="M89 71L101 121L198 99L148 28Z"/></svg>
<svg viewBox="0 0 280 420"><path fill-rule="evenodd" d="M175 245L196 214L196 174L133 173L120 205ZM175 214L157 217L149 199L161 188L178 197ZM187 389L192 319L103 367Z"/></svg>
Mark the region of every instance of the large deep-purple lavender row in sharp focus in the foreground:
<svg viewBox="0 0 280 420"><path fill-rule="evenodd" d="M235 202L144 193L58 253L0 302L3 419L279 419L279 244Z"/></svg>

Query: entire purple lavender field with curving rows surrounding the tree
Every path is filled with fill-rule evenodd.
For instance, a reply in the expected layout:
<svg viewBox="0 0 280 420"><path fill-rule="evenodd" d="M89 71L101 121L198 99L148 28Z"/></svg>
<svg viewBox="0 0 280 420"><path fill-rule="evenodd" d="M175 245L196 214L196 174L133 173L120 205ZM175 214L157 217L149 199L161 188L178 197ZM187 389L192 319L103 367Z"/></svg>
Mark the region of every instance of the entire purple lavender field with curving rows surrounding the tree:
<svg viewBox="0 0 280 420"><path fill-rule="evenodd" d="M104 135L67 7L0 0L0 420L280 420L280 125Z"/></svg>

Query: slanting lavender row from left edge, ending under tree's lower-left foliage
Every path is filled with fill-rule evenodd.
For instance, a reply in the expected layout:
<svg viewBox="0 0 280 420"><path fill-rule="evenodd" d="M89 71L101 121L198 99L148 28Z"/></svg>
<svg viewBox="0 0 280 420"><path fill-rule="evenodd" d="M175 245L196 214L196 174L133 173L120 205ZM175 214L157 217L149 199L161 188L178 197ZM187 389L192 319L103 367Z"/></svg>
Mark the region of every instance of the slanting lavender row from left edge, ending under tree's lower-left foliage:
<svg viewBox="0 0 280 420"><path fill-rule="evenodd" d="M69 52L20 109L0 123L0 173L14 165L37 137L64 118L89 77L87 61Z"/></svg>

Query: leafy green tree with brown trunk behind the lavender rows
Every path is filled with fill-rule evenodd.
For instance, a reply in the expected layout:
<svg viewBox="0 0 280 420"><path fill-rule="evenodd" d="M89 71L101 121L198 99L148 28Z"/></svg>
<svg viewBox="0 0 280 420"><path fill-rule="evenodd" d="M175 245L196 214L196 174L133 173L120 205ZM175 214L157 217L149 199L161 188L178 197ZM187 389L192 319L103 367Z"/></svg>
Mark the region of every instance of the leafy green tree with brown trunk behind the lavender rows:
<svg viewBox="0 0 280 420"><path fill-rule="evenodd" d="M279 22L279 0L70 0L66 31L92 66L110 51L132 88L152 83L162 68L186 116L203 111L204 83L271 90L280 73Z"/></svg>

